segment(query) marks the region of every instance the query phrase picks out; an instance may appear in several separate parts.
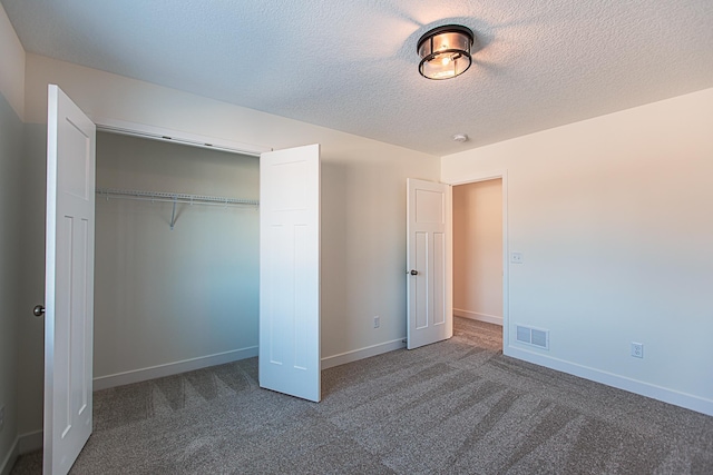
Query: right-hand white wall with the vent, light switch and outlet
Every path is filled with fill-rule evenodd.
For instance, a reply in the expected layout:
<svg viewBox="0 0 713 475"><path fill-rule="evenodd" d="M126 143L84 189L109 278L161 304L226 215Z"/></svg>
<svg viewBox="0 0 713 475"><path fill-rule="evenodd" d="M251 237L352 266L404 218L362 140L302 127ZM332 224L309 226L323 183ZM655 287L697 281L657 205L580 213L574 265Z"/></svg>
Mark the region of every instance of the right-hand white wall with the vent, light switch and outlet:
<svg viewBox="0 0 713 475"><path fill-rule="evenodd" d="M507 169L506 354L713 415L712 123L706 89L443 157L447 182Z"/></svg>

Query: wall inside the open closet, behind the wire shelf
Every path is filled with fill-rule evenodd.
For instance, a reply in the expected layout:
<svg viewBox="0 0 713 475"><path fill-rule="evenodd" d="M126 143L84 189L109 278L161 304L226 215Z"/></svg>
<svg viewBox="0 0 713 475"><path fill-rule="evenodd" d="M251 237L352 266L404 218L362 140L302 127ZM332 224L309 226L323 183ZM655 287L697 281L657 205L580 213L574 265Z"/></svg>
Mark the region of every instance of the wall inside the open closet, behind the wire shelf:
<svg viewBox="0 0 713 475"><path fill-rule="evenodd" d="M258 184L256 157L97 133L97 188L257 200ZM99 387L256 353L257 207L178 204L172 230L172 202L96 202Z"/></svg>

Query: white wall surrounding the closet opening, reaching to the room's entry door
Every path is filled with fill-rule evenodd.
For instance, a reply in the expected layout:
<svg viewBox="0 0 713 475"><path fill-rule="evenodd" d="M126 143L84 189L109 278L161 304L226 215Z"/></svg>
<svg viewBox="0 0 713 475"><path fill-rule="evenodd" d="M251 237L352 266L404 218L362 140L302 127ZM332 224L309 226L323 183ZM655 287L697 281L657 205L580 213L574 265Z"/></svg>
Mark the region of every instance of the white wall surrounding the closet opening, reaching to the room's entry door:
<svg viewBox="0 0 713 475"><path fill-rule="evenodd" d="M438 180L437 157L232 106L133 79L27 56L27 159L33 174L23 222L43 236L43 122L47 83L58 83L90 117L201 133L274 149L322 145L322 357L333 365L400 347L406 336L406 179ZM338 106L335 106L338 107ZM179 232L180 222L174 232ZM23 299L41 301L43 247L29 240ZM33 305L33 304L32 304ZM373 316L381 327L372 328ZM22 335L22 431L41 427L41 328ZM41 346L40 346L41 348ZM39 374L40 377L33 377ZM38 399L36 395L39 394Z"/></svg>

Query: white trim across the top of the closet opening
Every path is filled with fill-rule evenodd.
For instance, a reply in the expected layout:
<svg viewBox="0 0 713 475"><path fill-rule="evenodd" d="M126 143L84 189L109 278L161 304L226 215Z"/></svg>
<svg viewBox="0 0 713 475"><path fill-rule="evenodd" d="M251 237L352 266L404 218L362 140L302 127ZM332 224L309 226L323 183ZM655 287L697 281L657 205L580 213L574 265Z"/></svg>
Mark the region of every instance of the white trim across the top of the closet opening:
<svg viewBox="0 0 713 475"><path fill-rule="evenodd" d="M235 142L232 140L191 133L183 130L172 130L163 127L148 126L145 123L127 122L124 120L108 118L92 118L92 120L97 125L97 130L102 132L143 137L152 140L169 141L192 147L206 148L209 150L223 150L233 154L250 155L253 157L258 157L260 154L272 150L270 147Z"/></svg>

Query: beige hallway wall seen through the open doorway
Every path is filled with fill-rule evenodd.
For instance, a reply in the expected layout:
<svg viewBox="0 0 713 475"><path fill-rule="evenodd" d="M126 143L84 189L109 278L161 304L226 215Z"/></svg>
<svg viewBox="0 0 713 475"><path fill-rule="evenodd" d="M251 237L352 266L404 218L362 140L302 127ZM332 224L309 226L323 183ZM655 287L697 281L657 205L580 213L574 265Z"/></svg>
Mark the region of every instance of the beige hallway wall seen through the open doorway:
<svg viewBox="0 0 713 475"><path fill-rule="evenodd" d="M502 180L453 187L453 315L502 325Z"/></svg>

